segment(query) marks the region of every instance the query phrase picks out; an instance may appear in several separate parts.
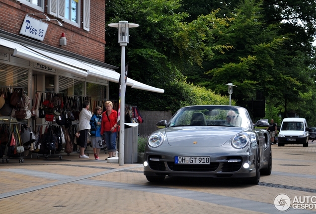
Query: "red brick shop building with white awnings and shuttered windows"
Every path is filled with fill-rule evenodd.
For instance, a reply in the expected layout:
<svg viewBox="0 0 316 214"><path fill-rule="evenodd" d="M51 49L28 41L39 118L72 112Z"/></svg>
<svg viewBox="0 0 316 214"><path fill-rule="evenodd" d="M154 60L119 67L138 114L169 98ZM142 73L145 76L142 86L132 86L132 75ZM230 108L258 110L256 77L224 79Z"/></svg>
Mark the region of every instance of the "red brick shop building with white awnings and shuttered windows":
<svg viewBox="0 0 316 214"><path fill-rule="evenodd" d="M23 88L30 108L37 92L88 97L91 106L108 99L120 71L104 61L105 9L104 0L0 0L2 90ZM162 90L130 78L127 85Z"/></svg>

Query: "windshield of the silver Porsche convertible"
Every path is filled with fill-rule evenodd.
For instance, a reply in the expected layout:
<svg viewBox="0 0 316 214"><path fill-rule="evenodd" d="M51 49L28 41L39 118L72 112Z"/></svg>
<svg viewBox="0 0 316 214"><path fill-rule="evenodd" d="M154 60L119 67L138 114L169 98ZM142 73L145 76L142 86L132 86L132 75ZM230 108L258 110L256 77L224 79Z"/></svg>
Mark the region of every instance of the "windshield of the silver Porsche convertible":
<svg viewBox="0 0 316 214"><path fill-rule="evenodd" d="M180 108L167 127L173 126L232 126L250 128L249 115L242 107L192 106Z"/></svg>

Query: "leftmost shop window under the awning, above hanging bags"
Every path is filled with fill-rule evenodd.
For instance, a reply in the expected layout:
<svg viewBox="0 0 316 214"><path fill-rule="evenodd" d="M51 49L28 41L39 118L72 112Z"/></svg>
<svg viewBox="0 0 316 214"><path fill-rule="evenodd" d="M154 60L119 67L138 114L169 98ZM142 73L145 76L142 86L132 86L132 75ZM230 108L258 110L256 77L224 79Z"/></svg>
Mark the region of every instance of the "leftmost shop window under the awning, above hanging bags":
<svg viewBox="0 0 316 214"><path fill-rule="evenodd" d="M0 85L27 89L28 69L0 63Z"/></svg>

